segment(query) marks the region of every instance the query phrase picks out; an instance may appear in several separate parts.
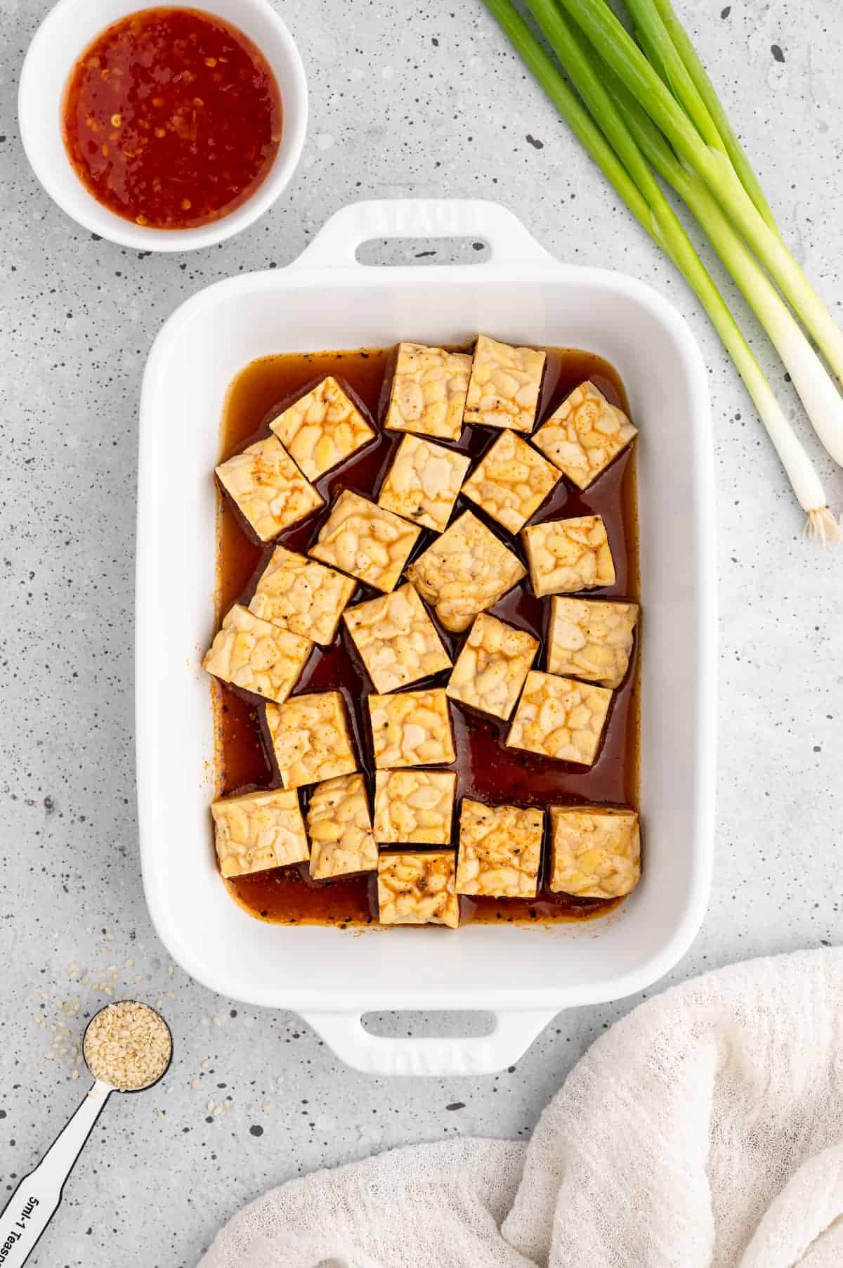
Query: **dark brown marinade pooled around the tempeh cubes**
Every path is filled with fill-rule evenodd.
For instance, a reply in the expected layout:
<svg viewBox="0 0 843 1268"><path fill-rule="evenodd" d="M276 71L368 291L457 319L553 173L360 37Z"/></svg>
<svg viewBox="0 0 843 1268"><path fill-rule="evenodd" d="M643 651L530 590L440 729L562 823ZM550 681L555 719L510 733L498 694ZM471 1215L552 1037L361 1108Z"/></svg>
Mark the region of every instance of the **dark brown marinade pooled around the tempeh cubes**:
<svg viewBox="0 0 843 1268"><path fill-rule="evenodd" d="M241 450L247 443L269 434L269 421L280 408L318 382L325 374L333 374L356 394L379 436L369 446L352 455L349 462L328 472L317 482L317 488L330 502L342 488L376 496L380 481L401 435L383 432L380 424L392 378L393 349L368 349L346 353L308 353L269 356L252 361L233 380L222 421L221 460ZM548 368L541 389L539 420L548 417L560 401L584 379L591 379L615 404L629 410L624 387L617 373L600 356L572 349L548 349ZM499 435L497 430L465 429L454 445L461 453L478 458ZM472 502L458 500L455 515L465 507L484 519L507 545L524 559L520 539L512 539L494 521ZM293 550L306 550L314 540L325 514L311 516L303 524L286 530L271 547L255 541L232 503L218 492L217 540L217 619L236 602L248 602L257 577L274 545L283 544ZM638 598L638 524L635 491L635 451L624 453L584 492L573 488L567 479L560 481L551 497L539 508L531 522L559 516L600 514L606 521L608 539L616 567L616 582L611 587L592 591L595 597ZM434 534L423 530L412 558L432 540ZM526 562L526 560L525 560ZM352 602L371 598L376 591L359 586ZM503 620L541 639L543 648L536 667L544 668L544 642L549 600L536 600L526 582L506 595L491 609ZM465 638L453 635L439 626L440 635L455 659ZM431 678L444 685L447 672ZM351 713L360 752L366 760L368 782L373 785L373 768L365 741L365 696L371 683L351 647L345 626L333 645L317 648L311 657L294 694L328 687L340 687ZM254 787L278 787L280 780L274 768L267 743L262 708L257 699L231 690L214 681L212 685L216 735L217 735L217 795L231 795ZM549 805L551 803L638 806L639 785L639 673L638 645L630 672L615 692L606 734L595 765L584 770L568 762L554 762L532 753L506 748L503 738L507 723L470 713L451 701L458 760L458 805L460 796L472 796L492 804ZM307 804L307 790L304 794ZM458 814L454 815L454 844L456 844ZM545 842L545 861L546 861ZM275 869L238 876L227 881L235 898L254 915L281 923L326 923L346 926L371 924L374 921L374 894L370 876L313 883L307 865L293 869ZM602 915L617 905L616 900L574 899L564 894L550 894L541 877L539 898L489 899L460 898L461 921L527 922L546 924L557 921L588 919Z"/></svg>

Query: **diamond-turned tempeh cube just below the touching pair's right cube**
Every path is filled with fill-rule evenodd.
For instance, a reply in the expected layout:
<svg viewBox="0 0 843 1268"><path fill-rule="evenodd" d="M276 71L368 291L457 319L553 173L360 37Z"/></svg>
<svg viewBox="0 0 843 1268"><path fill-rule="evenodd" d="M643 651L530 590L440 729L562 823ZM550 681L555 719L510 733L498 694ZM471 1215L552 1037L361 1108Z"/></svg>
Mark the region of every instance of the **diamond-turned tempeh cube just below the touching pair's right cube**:
<svg viewBox="0 0 843 1268"><path fill-rule="evenodd" d="M513 431L503 431L463 484L463 493L510 533L539 510L559 472Z"/></svg>

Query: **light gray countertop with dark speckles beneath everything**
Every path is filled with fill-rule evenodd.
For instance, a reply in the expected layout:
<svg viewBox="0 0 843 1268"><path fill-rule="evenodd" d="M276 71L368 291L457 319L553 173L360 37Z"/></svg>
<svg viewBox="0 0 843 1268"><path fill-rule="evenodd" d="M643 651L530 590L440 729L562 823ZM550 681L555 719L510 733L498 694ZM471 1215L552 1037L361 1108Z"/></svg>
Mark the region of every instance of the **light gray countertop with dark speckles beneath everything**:
<svg viewBox="0 0 843 1268"><path fill-rule="evenodd" d="M350 199L497 198L560 257L633 273L686 313L714 397L719 804L709 915L671 980L843 935L843 557L802 540L776 455L696 303L479 0L280 8L309 75L303 162L256 226L180 257L93 241L35 183L15 89L47 0L0 3L0 1205L80 1097L62 1049L113 998L105 987L162 1002L177 1044L155 1092L109 1106L30 1260L39 1268L191 1265L238 1205L288 1177L454 1134L527 1136L572 1063L636 1002L559 1017L494 1078L382 1082L338 1066L295 1017L198 987L170 966L150 926L132 732L145 358L181 299L241 270L281 268ZM843 90L828 52L843 44L843 9L835 0L682 0L681 9L787 240L840 312ZM781 366L747 326L796 413ZM843 476L828 459L820 468L839 511ZM445 1025L464 1030L460 1018ZM421 1026L384 1022L387 1033Z"/></svg>

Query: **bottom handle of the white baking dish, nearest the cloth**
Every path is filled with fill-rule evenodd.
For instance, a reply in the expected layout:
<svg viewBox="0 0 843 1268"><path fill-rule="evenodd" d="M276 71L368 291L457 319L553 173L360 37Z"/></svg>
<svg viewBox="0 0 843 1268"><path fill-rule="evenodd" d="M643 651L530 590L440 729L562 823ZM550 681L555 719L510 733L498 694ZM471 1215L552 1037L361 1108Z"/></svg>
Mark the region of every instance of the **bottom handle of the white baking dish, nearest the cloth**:
<svg viewBox="0 0 843 1268"><path fill-rule="evenodd" d="M336 1055L364 1074L496 1074L524 1056L553 1021L553 1009L494 1013L491 1035L470 1038L387 1038L364 1030L363 1013L303 1013Z"/></svg>

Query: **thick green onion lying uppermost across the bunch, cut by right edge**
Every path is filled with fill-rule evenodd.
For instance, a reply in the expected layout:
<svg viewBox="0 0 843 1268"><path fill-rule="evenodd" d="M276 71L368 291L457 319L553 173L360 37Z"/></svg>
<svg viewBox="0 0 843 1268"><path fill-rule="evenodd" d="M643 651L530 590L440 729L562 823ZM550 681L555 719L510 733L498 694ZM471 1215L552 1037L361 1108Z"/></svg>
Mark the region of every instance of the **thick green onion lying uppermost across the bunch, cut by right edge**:
<svg viewBox="0 0 843 1268"><path fill-rule="evenodd" d="M781 238L769 228L742 185L731 161L706 145L692 120L605 0L559 0L666 134L677 155L702 178L785 297L816 340L838 379L843 379L843 331ZM602 123L602 120L597 120Z"/></svg>

